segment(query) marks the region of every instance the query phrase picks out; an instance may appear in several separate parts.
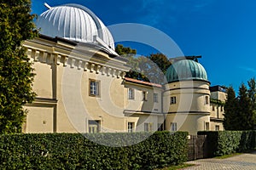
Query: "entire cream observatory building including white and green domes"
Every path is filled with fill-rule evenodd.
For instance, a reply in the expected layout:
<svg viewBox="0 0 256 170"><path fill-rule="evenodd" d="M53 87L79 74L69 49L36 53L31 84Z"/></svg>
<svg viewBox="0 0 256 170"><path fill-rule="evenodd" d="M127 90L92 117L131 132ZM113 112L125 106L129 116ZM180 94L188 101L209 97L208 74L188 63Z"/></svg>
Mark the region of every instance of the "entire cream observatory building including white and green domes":
<svg viewBox="0 0 256 170"><path fill-rule="evenodd" d="M127 60L90 9L48 6L36 26L39 37L23 44L37 94L25 106L24 133L223 130L223 106L211 101L224 101L224 90L209 87L207 71L195 59L176 59L166 84L143 82L125 77Z"/></svg>

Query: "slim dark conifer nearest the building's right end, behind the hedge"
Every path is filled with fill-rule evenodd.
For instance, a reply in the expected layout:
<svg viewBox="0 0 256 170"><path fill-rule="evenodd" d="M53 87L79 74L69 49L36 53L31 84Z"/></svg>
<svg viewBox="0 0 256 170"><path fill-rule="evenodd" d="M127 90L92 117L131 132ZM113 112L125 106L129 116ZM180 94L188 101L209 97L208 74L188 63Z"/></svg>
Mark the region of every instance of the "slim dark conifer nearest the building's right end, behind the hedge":
<svg viewBox="0 0 256 170"><path fill-rule="evenodd" d="M224 129L225 130L236 130L239 126L239 117L237 116L237 105L236 93L234 88L227 88L227 99L224 105Z"/></svg>

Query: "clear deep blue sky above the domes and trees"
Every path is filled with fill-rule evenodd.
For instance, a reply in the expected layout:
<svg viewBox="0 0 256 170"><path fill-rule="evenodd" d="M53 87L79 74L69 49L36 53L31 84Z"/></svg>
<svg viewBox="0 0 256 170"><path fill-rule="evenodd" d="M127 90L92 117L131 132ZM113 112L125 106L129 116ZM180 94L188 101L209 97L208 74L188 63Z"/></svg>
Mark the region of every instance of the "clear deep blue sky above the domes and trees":
<svg viewBox="0 0 256 170"><path fill-rule="evenodd" d="M202 55L212 85L247 83L256 74L256 1L254 0L32 0L32 14L44 3L79 3L90 8L106 26L138 23L165 32L185 55ZM137 54L153 48L123 42Z"/></svg>

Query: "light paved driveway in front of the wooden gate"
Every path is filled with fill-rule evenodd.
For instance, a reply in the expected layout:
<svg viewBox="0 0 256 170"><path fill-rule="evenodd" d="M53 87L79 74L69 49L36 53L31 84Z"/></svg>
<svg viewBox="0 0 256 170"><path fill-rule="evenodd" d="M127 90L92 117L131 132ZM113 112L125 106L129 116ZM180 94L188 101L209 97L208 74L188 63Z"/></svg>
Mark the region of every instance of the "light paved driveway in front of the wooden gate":
<svg viewBox="0 0 256 170"><path fill-rule="evenodd" d="M256 170L256 151L250 154L242 154L239 156L233 156L226 159L201 159L196 161L188 161L187 163L193 163L196 164L196 166L183 168L185 170Z"/></svg>

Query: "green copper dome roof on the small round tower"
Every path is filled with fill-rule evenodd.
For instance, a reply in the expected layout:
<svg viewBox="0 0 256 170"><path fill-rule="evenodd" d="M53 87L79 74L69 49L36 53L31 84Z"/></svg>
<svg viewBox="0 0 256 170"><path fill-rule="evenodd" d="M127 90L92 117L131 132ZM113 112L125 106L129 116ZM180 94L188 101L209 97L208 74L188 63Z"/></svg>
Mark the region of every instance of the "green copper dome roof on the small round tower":
<svg viewBox="0 0 256 170"><path fill-rule="evenodd" d="M194 60L178 60L167 69L166 80L167 82L183 80L207 81L207 71L200 63Z"/></svg>

